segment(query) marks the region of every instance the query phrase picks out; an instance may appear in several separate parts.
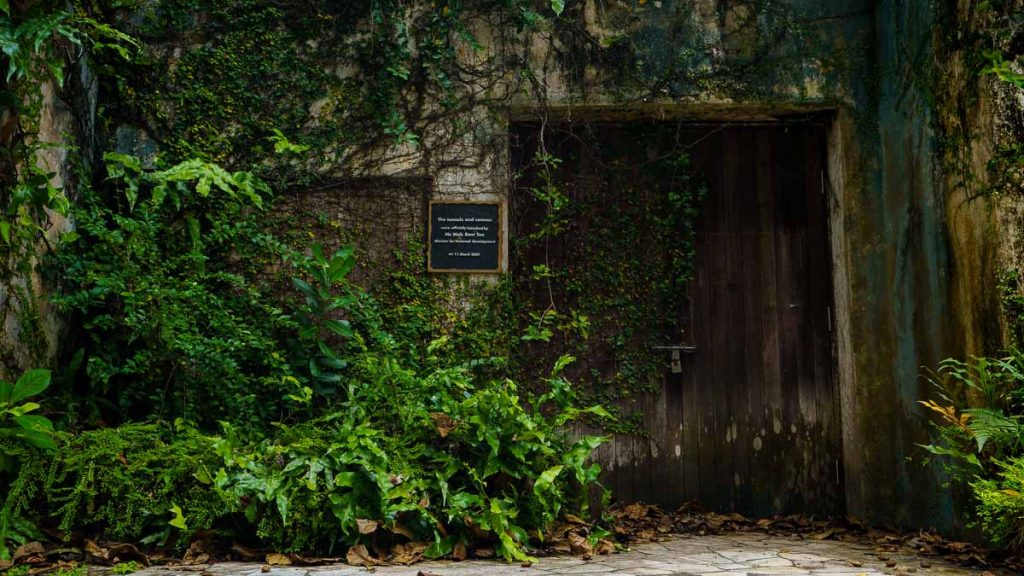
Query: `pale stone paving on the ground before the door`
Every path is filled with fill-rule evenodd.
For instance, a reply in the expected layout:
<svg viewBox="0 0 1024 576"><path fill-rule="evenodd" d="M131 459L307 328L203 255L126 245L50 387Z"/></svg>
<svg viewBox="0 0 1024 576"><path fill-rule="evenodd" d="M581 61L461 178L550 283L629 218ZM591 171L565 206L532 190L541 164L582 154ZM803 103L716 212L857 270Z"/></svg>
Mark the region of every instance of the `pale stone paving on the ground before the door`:
<svg viewBox="0 0 1024 576"><path fill-rule="evenodd" d="M590 560L543 558L532 566L495 561L424 562L413 566L366 568L330 565L316 567L273 567L264 573L258 564L214 564L197 570L150 568L137 576L551 576L554 574L616 576L683 575L768 576L804 574L814 576L873 576L880 574L944 576L979 575L971 570L943 563L912 551L880 552L870 542L837 542L773 537L761 533L733 533L718 536L677 536L662 542L634 546L630 551L594 557ZM269 567L268 567L269 568ZM989 574L1009 574L993 571Z"/></svg>

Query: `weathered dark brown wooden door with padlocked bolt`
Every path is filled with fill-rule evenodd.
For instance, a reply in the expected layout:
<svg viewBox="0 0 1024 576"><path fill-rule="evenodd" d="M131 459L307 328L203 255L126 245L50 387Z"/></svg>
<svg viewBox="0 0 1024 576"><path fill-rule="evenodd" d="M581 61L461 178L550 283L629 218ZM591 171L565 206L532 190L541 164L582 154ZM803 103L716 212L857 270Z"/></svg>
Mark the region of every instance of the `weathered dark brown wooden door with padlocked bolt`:
<svg viewBox="0 0 1024 576"><path fill-rule="evenodd" d="M622 130L591 127L606 141ZM687 349L676 370L671 351L663 353L659 394L631 400L645 434L617 436L598 452L606 483L624 501L697 500L755 516L842 513L822 127L676 126L671 133L708 189L693 279L665 304L682 335L674 329L659 340ZM585 188L604 165L573 164L567 186Z"/></svg>

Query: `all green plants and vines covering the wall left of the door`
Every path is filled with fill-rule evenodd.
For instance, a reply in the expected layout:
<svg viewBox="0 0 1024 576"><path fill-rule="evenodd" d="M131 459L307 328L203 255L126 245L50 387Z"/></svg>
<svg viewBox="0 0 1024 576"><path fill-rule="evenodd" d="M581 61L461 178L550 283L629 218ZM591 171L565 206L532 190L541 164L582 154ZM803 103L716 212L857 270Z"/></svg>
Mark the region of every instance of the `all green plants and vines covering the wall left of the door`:
<svg viewBox="0 0 1024 576"><path fill-rule="evenodd" d="M39 253L50 303L80 328L42 407L59 431L15 405L24 397L0 405L10 416L0 550L39 537L41 523L179 549L216 529L285 550L372 541L443 556L472 542L525 559L559 515L582 513L599 488L587 458L600 439L570 440L565 427L607 414L588 401L605 396L577 396L565 353L610 351L625 368L578 372L606 388L650 380L652 359L631 355L649 343L640 319L688 279L692 231L679 219L699 187L684 155L654 166L673 186L651 194L672 215L644 228L670 248L656 262L664 282L620 274L613 298L583 297L606 269L537 268L538 285L564 281L565 301L535 311L508 283L425 278L415 243L370 294L348 279L351 250L325 253L262 224L271 191L325 174L483 165L501 136L475 117L521 93L543 114L536 66L564 67L583 93L593 80L583 55L601 65L596 83L633 97L767 94L785 75L803 85L783 44L807 31L783 4L734 6L722 14L730 33L707 39L691 34L698 3L679 3L672 32L687 42L669 43L671 54L632 44L653 14L644 4L611 7L621 30L594 36L586 5L561 0L0 0L0 283L20 290L37 362L55 348L33 310ZM543 45L559 48L536 54ZM99 77L95 138L42 141L41 87L84 82L85 53ZM788 64L778 77L752 74L768 59ZM70 166L41 162L75 143ZM614 223L593 204L566 208L554 182L532 192L552 225L584 213ZM77 231L58 238L57 216ZM459 310L453 294L477 305ZM615 339L608 326L623 319L636 322ZM581 343L594 328L600 342ZM510 367L513 349L539 340L558 345L528 371ZM6 370L26 362L7 356Z"/></svg>

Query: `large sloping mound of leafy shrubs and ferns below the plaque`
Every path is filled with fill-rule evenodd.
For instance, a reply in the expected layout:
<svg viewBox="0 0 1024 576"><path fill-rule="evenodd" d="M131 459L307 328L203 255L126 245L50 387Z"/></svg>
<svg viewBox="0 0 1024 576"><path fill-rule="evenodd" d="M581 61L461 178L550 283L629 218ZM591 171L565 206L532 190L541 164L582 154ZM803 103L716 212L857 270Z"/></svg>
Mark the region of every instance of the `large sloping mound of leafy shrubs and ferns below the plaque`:
<svg viewBox="0 0 1024 576"><path fill-rule="evenodd" d="M458 315L450 333L420 325L348 282L350 249L304 255L260 232L267 191L251 175L119 155L109 170L112 195L83 199L53 259L55 301L90 336L89 387L69 398L93 402L68 405L63 424L124 423L59 435L51 464L15 470L45 482L11 510L154 545L218 528L289 551L372 540L510 560L586 510L602 439L565 425L607 414L578 407L570 357L525 394L495 376L505 359L454 347ZM247 268L274 264L294 295Z"/></svg>

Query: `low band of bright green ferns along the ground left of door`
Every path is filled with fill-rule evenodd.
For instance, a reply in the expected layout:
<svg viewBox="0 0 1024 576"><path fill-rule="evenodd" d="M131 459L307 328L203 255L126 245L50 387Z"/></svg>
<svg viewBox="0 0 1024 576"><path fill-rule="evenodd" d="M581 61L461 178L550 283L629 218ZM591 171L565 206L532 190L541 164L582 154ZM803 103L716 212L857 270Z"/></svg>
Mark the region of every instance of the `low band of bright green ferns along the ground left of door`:
<svg viewBox="0 0 1024 576"><path fill-rule="evenodd" d="M327 273L335 289L339 265ZM570 358L549 375L547 394L523 399L510 380L474 379L471 363L423 358L436 345L406 342L421 357L407 364L373 298L346 305L347 389L315 393L326 406L314 418L266 436L224 422L219 438L158 424L63 437L47 485L61 528L164 543L233 518L278 549L335 553L369 538L372 522L388 539L432 543L431 556L490 541L504 558L526 560L555 519L582 513L599 474L589 455L603 439L570 441L565 425L607 414L577 408L562 375ZM437 366L413 367L428 365Z"/></svg>

